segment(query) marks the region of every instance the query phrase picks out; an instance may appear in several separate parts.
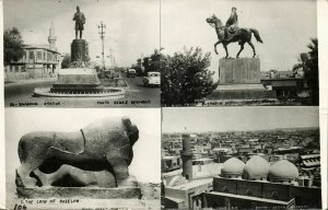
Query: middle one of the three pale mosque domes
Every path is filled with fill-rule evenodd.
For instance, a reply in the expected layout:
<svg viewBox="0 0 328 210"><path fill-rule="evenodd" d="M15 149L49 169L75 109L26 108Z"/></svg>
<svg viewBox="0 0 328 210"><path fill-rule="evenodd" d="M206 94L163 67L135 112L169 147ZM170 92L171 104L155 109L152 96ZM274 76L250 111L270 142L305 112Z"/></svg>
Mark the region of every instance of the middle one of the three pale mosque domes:
<svg viewBox="0 0 328 210"><path fill-rule="evenodd" d="M262 180L267 179L270 165L263 158L255 155L249 159L245 165L245 176L247 179Z"/></svg>

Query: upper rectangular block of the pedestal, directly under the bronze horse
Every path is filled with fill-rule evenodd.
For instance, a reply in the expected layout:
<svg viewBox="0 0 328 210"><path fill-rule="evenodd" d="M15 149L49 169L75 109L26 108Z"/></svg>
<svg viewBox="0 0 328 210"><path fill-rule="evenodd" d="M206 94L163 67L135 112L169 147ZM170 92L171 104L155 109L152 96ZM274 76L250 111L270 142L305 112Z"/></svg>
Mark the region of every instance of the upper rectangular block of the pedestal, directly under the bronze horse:
<svg viewBox="0 0 328 210"><path fill-rule="evenodd" d="M259 58L221 58L219 61L219 84L260 83Z"/></svg>

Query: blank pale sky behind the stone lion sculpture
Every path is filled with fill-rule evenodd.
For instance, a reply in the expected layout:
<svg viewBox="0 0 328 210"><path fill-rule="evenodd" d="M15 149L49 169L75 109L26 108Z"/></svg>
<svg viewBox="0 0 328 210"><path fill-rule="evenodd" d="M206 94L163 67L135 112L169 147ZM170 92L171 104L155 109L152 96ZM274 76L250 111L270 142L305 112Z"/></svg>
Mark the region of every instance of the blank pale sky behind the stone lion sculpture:
<svg viewBox="0 0 328 210"><path fill-rule="evenodd" d="M161 110L159 108L7 108L5 160L7 175L14 177L20 166L17 143L31 131L79 131L103 118L128 116L139 129L139 140L133 145L133 160L129 173L139 182L160 182L161 174ZM142 117L141 117L142 116Z"/></svg>

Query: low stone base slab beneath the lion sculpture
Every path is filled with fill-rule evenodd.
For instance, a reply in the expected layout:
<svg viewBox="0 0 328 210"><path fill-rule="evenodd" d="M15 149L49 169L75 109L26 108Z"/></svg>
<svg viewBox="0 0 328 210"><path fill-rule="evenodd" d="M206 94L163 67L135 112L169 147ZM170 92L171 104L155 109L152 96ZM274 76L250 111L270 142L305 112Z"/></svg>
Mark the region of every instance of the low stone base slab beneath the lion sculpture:
<svg viewBox="0 0 328 210"><path fill-rule="evenodd" d="M20 198L140 199L139 187L16 187Z"/></svg>

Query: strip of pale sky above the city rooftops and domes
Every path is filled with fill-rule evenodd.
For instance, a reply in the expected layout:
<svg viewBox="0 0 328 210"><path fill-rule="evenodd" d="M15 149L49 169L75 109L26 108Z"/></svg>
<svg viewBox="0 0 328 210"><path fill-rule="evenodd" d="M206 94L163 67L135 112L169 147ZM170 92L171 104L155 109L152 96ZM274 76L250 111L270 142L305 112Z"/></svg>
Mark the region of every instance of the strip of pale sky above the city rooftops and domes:
<svg viewBox="0 0 328 210"><path fill-rule="evenodd" d="M163 108L162 132L247 131L319 127L318 107Z"/></svg>

